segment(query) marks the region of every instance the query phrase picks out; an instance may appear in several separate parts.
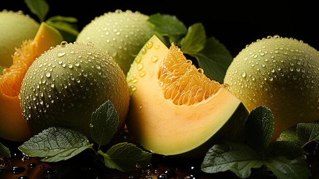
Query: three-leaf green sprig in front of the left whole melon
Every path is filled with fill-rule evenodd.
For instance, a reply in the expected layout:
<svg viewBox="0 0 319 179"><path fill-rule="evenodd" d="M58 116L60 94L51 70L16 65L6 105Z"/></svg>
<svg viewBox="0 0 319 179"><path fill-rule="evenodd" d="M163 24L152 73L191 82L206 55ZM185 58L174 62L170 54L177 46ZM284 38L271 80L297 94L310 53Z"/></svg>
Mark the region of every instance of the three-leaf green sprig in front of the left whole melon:
<svg viewBox="0 0 319 179"><path fill-rule="evenodd" d="M127 142L113 145L106 152L100 146L107 145L114 137L119 117L110 100L102 104L92 114L91 138L98 144L97 151L84 134L64 127L49 127L18 148L30 157L40 157L43 162L58 162L68 160L86 149L91 149L97 159L106 167L120 171L131 171L136 164L146 167L151 162L151 154L134 144ZM0 156L10 157L8 148L0 146Z"/></svg>

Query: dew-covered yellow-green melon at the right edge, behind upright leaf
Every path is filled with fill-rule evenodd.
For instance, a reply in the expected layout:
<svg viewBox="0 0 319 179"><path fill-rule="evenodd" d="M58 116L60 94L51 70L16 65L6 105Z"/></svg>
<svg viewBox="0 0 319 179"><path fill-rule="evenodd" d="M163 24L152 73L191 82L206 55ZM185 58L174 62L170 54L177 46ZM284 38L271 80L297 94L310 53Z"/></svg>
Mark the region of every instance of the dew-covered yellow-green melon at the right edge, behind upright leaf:
<svg viewBox="0 0 319 179"><path fill-rule="evenodd" d="M233 59L224 82L249 110L272 110L273 140L319 119L319 52L303 41L276 35L251 43Z"/></svg>

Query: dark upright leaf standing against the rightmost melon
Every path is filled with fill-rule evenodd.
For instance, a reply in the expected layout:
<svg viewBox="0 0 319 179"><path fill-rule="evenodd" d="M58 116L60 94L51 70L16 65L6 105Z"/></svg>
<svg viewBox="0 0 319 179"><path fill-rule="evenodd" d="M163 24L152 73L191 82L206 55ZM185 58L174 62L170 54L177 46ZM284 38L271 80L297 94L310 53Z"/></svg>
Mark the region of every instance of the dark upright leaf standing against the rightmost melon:
<svg viewBox="0 0 319 179"><path fill-rule="evenodd" d="M274 132L274 116L271 110L264 106L253 109L245 129L249 146L264 156Z"/></svg>

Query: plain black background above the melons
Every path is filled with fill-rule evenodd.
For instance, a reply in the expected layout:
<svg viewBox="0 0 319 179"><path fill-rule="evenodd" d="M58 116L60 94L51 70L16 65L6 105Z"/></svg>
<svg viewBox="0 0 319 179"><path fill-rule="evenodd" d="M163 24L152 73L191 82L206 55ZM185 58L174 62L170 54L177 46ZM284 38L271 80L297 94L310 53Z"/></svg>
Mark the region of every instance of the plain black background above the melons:
<svg viewBox="0 0 319 179"><path fill-rule="evenodd" d="M233 56L246 44L269 35L293 37L319 49L318 6L301 1L61 1L47 0L48 17L55 15L73 16L78 19L78 29L95 16L116 9L176 15L185 25L202 22L207 36L222 42ZM315 2L315 1L313 1ZM0 10L23 10L32 15L23 0L0 1ZM1 27L0 27L1 28Z"/></svg>

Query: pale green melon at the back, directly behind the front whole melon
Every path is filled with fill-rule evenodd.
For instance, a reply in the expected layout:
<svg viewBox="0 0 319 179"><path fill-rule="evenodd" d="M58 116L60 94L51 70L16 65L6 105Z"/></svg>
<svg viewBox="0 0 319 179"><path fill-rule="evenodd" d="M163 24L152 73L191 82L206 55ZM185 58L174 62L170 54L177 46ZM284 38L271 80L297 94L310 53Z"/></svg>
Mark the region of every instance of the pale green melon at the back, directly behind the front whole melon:
<svg viewBox="0 0 319 179"><path fill-rule="evenodd" d="M87 24L76 41L93 42L111 55L126 74L134 56L153 35L147 19L147 15L129 10L104 13Z"/></svg>

